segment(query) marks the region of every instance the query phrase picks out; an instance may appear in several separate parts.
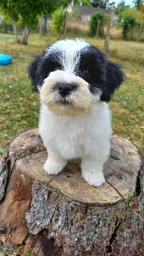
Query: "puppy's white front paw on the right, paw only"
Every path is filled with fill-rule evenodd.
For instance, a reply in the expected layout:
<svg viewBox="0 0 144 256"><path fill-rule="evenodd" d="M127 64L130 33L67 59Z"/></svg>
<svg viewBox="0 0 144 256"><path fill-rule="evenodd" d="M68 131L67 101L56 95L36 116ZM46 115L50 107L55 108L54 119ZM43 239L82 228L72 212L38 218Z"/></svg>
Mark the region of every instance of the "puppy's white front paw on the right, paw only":
<svg viewBox="0 0 144 256"><path fill-rule="evenodd" d="M90 172L82 172L83 179L90 184L90 186L99 187L106 180L104 179L104 174L102 172L99 173L90 173Z"/></svg>

